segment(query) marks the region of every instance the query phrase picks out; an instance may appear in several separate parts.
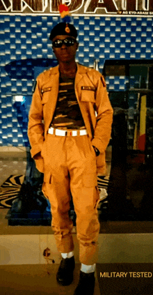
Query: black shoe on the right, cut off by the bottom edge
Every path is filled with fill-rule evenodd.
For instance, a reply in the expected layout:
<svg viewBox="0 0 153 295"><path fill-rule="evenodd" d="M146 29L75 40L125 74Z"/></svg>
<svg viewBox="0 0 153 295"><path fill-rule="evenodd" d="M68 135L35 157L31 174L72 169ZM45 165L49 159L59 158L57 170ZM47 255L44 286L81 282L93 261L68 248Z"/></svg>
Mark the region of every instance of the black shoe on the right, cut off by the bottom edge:
<svg viewBox="0 0 153 295"><path fill-rule="evenodd" d="M93 295L95 288L94 273L83 273L80 271L79 284L74 291L74 295Z"/></svg>

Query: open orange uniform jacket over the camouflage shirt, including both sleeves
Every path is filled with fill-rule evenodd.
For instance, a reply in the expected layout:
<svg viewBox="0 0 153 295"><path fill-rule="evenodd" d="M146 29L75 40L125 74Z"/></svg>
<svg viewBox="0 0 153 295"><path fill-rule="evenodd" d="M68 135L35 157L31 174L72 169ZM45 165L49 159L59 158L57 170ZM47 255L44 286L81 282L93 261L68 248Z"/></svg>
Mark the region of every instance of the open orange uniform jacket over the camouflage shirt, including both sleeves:
<svg viewBox="0 0 153 295"><path fill-rule="evenodd" d="M28 135L31 156L42 173L44 167L40 152L54 116L58 86L58 66L41 73L37 78L29 112ZM97 156L97 173L105 174L105 151L111 137L113 109L108 99L104 78L97 70L77 63L75 93L91 143L100 151L100 155Z"/></svg>

